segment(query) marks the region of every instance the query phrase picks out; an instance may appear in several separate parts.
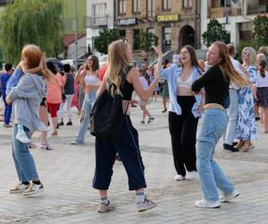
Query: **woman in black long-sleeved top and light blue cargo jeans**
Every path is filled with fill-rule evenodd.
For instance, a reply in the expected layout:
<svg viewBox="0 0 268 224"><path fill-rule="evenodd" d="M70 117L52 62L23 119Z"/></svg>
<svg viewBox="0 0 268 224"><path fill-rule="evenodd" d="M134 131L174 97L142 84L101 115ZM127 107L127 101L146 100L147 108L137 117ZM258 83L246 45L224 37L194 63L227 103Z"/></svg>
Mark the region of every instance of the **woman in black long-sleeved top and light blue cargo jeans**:
<svg viewBox="0 0 268 224"><path fill-rule="evenodd" d="M227 202L239 195L214 160L216 143L221 138L228 120L223 108L224 99L230 82L247 86L247 81L232 66L224 43L214 42L208 49L206 60L212 67L192 85L195 92L205 89L205 111L197 137L197 170L204 200L195 204L201 208L219 208L220 202ZM217 187L222 191L220 199Z"/></svg>

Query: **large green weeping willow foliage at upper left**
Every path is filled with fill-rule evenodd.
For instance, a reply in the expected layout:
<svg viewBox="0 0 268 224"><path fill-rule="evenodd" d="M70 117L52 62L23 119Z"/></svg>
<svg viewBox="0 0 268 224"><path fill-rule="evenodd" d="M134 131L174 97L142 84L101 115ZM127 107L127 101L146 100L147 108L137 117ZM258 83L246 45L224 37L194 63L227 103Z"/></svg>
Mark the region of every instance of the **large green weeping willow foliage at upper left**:
<svg viewBox="0 0 268 224"><path fill-rule="evenodd" d="M63 51L63 1L15 0L6 5L1 20L4 59L17 64L21 48L36 44L46 56Z"/></svg>

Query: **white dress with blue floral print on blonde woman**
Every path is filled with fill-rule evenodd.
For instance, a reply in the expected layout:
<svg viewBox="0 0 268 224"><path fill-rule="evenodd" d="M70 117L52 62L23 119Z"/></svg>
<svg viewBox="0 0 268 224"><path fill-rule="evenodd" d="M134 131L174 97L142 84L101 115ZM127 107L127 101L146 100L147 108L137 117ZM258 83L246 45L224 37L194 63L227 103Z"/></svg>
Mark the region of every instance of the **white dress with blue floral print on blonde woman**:
<svg viewBox="0 0 268 224"><path fill-rule="evenodd" d="M255 65L246 67L250 74L250 82L255 84L257 69ZM256 140L257 130L254 115L254 98L251 86L242 87L238 90L239 94L239 120L237 125L237 136L239 140Z"/></svg>

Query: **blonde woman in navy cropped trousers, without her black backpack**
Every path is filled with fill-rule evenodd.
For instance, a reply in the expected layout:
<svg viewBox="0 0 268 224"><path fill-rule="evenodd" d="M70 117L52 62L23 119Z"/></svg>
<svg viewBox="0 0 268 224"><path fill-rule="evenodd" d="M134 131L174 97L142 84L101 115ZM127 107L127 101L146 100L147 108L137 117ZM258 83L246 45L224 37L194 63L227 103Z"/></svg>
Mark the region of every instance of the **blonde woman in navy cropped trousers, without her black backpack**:
<svg viewBox="0 0 268 224"><path fill-rule="evenodd" d="M138 70L129 66L130 60L131 51L128 43L125 40L114 41L108 48L108 68L105 72L104 81L96 93L96 97L99 97L106 88L109 89L111 83L115 84L117 86L116 91L123 97L122 107L127 114L119 140L108 141L96 137L96 169L93 187L98 189L100 194L98 212L114 209L114 206L107 199L107 190L113 175L116 153L119 153L127 171L130 191L136 191L138 211L146 211L156 206L155 202L149 201L144 194L144 188L147 187L144 165L138 148L138 132L131 124L128 106L133 90L144 100L147 100L153 94L159 81L159 73L155 73L154 82L147 90L143 90L139 82ZM159 56L157 65L161 66L161 62L162 55Z"/></svg>

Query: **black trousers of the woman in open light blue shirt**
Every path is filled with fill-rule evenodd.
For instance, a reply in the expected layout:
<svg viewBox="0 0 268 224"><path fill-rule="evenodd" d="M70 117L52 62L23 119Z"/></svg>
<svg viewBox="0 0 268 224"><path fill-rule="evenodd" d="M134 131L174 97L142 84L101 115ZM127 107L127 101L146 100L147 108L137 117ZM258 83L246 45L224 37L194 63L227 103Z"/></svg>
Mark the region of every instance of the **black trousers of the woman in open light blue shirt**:
<svg viewBox="0 0 268 224"><path fill-rule="evenodd" d="M172 137L172 152L176 171L182 177L188 171L197 171L196 138L198 117L191 109L196 102L194 96L178 96L181 115L169 112L169 129Z"/></svg>

